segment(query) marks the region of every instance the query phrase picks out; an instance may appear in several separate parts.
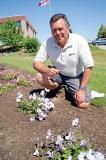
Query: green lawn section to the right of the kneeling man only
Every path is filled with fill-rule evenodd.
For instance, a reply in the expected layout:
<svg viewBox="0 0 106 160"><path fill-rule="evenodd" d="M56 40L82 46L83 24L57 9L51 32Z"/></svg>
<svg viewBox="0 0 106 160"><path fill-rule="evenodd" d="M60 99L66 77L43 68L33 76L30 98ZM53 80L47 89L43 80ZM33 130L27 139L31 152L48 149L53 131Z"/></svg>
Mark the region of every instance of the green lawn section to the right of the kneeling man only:
<svg viewBox="0 0 106 160"><path fill-rule="evenodd" d="M105 93L105 97L92 101L93 105L106 106L106 50L91 46L95 67L90 80L92 90Z"/></svg>

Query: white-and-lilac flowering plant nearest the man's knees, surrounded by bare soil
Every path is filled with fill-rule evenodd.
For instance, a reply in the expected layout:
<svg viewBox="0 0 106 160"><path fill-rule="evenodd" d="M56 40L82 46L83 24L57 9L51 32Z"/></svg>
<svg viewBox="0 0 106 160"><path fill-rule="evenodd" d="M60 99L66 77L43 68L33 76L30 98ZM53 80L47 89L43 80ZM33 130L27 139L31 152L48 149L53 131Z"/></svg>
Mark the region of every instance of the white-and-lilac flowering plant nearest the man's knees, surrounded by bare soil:
<svg viewBox="0 0 106 160"><path fill-rule="evenodd" d="M35 120L35 118L40 121L45 120L47 114L54 108L53 102L45 98L43 92L40 95L35 93L29 95L29 99L24 98L23 94L19 92L17 93L16 102L18 103L18 110L33 115L30 118L31 121Z"/></svg>

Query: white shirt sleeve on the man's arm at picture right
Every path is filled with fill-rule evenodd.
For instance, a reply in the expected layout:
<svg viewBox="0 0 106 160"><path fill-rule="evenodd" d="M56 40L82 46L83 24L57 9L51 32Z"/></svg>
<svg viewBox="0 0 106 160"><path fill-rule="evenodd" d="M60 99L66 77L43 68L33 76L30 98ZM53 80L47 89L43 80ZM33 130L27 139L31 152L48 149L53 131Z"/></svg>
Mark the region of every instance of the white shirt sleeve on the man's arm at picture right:
<svg viewBox="0 0 106 160"><path fill-rule="evenodd" d="M94 61L92 58L92 54L91 54L88 42L83 37L81 37L79 41L79 56L80 56L81 62L84 65L84 68L94 66Z"/></svg>

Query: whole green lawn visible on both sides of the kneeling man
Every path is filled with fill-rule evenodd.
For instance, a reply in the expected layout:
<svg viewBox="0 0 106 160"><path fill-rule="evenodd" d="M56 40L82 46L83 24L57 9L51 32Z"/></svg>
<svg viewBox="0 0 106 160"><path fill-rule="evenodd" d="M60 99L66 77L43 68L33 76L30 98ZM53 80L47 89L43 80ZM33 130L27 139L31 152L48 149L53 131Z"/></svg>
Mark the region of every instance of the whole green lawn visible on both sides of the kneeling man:
<svg viewBox="0 0 106 160"><path fill-rule="evenodd" d="M90 88L92 90L103 92L106 94L106 50L91 46L95 67L93 69L90 80ZM12 67L19 68L31 73L35 73L32 62L34 56L0 56L0 64L8 64ZM50 64L50 61L47 62ZM93 105L106 106L106 96L92 101Z"/></svg>

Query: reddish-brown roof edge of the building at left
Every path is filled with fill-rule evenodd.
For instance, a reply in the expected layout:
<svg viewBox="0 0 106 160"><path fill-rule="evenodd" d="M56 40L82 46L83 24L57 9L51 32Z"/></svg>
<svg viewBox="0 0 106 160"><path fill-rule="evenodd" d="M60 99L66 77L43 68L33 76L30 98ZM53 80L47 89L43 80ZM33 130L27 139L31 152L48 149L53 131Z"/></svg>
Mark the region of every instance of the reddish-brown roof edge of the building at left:
<svg viewBox="0 0 106 160"><path fill-rule="evenodd" d="M0 24L5 23L5 21L7 20L7 18L11 18L11 19L15 20L16 22L17 21L21 21L21 20L25 20L32 27L32 29L36 33L36 30L35 30L34 26L31 24L31 22L28 20L28 18L26 16L18 16L17 15L17 16L0 17Z"/></svg>

